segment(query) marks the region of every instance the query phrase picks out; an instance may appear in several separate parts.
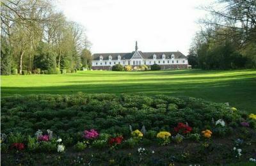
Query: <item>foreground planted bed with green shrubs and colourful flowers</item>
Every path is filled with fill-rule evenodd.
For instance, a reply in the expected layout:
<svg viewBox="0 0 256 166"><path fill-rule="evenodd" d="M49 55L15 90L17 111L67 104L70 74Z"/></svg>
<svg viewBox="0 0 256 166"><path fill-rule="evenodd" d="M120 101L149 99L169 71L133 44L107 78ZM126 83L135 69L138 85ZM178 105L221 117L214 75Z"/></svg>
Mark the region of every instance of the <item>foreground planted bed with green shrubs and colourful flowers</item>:
<svg viewBox="0 0 256 166"><path fill-rule="evenodd" d="M246 159L244 151L234 151L233 147L242 149L250 144L246 147L250 149L256 140L254 114L196 98L81 93L70 96L33 95L3 98L1 109L1 130L6 133L1 135L5 164L11 164L13 158L19 158L20 154L36 160L39 157L36 154L42 153L53 153L62 158L50 157L58 165L66 160L68 164L76 164L78 160L74 162L68 153L85 152L83 155L88 164L92 158L96 160L92 156L90 158L90 155L98 154L93 153L93 149L106 153L100 156L98 163L107 165L136 160L154 165L150 160L152 157L155 162L163 160L164 164L205 163L201 155L211 155L219 144L214 142L218 139L226 141L228 146L223 148L230 149L232 162L234 158ZM186 145L188 151L180 148L180 154L173 151L170 156L157 151L173 144L179 144L179 147ZM248 149L248 159L255 158ZM34 156L29 156L30 153ZM20 158L19 161L24 163Z"/></svg>

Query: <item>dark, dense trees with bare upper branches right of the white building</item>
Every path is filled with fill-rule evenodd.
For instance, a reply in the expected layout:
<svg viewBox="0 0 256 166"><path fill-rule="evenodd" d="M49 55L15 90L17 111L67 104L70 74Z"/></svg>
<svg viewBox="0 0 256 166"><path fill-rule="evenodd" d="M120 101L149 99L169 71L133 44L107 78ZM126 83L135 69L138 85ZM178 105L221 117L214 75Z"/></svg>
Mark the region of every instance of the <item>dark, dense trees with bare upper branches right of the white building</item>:
<svg viewBox="0 0 256 166"><path fill-rule="evenodd" d="M216 0L201 6L210 16L199 20L188 61L192 68L256 68L256 1Z"/></svg>

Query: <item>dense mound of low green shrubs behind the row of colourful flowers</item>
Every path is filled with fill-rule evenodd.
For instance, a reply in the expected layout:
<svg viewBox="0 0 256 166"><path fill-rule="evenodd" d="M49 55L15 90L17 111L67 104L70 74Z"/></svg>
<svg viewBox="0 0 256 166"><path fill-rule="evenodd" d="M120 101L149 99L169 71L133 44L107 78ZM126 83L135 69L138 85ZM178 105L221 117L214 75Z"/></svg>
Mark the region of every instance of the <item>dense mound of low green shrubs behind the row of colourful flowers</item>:
<svg viewBox="0 0 256 166"><path fill-rule="evenodd" d="M1 132L29 135L38 129L50 129L69 137L95 128L99 132L127 136L129 125L134 129L145 125L147 130L159 131L173 130L179 122L204 130L213 125L212 119L223 119L233 125L240 123L243 116L243 112L234 112L224 103L164 95L78 93L1 98ZM152 132L147 137L155 134Z"/></svg>

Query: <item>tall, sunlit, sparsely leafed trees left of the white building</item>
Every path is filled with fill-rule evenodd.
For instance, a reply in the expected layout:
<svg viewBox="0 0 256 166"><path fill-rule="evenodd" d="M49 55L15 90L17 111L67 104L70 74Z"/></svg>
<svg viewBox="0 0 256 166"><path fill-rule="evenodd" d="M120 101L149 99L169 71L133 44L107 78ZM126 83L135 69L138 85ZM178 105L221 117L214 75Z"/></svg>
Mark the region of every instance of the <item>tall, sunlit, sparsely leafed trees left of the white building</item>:
<svg viewBox="0 0 256 166"><path fill-rule="evenodd" d="M90 68L84 27L68 21L49 0L1 1L1 75Z"/></svg>

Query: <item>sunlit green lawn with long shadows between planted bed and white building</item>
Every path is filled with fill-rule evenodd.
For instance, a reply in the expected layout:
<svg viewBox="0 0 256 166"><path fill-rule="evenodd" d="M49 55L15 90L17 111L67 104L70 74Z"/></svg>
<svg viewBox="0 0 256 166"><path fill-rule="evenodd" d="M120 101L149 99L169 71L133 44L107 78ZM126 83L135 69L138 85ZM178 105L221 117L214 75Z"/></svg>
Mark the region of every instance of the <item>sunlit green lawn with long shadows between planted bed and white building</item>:
<svg viewBox="0 0 256 166"><path fill-rule="evenodd" d="M1 76L2 96L79 91L193 96L229 102L239 109L256 112L256 70L85 71L66 75Z"/></svg>

